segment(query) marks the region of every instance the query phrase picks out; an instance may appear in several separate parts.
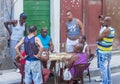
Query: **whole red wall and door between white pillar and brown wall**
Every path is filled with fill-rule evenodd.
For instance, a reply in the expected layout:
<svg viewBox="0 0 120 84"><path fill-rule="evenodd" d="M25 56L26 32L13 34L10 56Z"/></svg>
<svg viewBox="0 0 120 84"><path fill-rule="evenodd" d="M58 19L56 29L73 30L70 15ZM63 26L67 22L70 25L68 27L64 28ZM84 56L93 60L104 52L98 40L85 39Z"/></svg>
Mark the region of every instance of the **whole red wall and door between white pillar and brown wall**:
<svg viewBox="0 0 120 84"><path fill-rule="evenodd" d="M72 10L73 16L83 22L87 42L94 51L96 48L96 37L100 30L98 16L104 12L104 1L105 0L61 0L60 43L66 41L66 11Z"/></svg>

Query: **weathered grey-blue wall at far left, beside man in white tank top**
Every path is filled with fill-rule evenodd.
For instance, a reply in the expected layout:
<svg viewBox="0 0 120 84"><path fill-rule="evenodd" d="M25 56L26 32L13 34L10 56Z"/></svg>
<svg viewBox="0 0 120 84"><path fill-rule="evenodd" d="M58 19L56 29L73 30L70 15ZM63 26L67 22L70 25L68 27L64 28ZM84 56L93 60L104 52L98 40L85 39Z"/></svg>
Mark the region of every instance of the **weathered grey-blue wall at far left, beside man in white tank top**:
<svg viewBox="0 0 120 84"><path fill-rule="evenodd" d="M9 67L9 65L11 65L11 62L8 60L10 59L7 42L9 35L3 24L4 21L12 19L12 1L13 0L0 0L0 69L12 68Z"/></svg>

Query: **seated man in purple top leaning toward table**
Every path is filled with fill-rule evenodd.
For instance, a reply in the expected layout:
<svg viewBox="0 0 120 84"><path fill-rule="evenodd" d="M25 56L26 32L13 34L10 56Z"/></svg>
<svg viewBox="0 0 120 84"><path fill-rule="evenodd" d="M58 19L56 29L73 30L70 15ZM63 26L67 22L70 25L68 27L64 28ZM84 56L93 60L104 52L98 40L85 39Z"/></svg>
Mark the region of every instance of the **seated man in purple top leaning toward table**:
<svg viewBox="0 0 120 84"><path fill-rule="evenodd" d="M72 76L74 75L74 68L73 65L81 64L81 63L87 63L87 55L86 53L83 53L83 47L84 45L81 43L78 43L74 46L74 54L69 60L66 58L63 58L63 62L65 63L67 68L70 68L70 73Z"/></svg>

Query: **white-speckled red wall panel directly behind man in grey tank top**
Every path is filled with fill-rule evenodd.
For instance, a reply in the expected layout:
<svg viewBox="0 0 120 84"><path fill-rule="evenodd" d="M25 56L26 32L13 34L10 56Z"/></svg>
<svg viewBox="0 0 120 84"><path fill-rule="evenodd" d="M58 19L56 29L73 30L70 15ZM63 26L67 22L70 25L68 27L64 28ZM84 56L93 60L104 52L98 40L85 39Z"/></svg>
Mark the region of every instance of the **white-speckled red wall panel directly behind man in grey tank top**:
<svg viewBox="0 0 120 84"><path fill-rule="evenodd" d="M60 42L66 41L66 11L71 10L75 18L82 20L82 0L61 0L60 14Z"/></svg>

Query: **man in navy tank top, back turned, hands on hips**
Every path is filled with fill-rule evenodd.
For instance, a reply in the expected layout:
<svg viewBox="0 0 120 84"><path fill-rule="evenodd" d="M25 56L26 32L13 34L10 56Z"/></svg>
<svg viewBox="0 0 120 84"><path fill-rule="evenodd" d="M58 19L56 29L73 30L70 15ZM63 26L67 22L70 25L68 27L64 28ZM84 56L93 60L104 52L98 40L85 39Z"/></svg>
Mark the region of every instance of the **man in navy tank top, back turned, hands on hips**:
<svg viewBox="0 0 120 84"><path fill-rule="evenodd" d="M31 84L32 80L34 84L43 84L42 79L42 51L43 46L38 37L36 37L36 26L29 27L29 35L21 39L21 41L15 46L17 54L21 59L26 59L25 62L25 84ZM23 58L20 53L20 46L24 43L26 52L26 58ZM48 58L47 58L48 59Z"/></svg>

